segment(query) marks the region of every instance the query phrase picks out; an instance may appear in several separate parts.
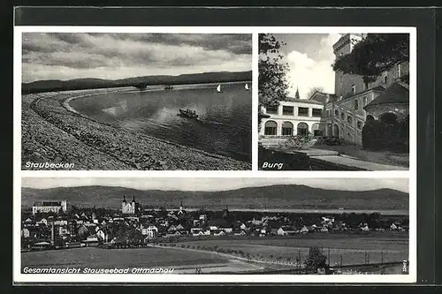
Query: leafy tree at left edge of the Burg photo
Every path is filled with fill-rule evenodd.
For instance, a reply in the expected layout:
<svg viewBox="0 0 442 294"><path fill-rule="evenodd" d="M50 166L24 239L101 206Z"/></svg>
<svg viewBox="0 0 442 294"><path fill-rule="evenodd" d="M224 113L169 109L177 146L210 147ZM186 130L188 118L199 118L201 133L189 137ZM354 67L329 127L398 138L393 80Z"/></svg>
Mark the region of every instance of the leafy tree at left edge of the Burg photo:
<svg viewBox="0 0 442 294"><path fill-rule="evenodd" d="M287 99L288 84L286 72L288 64L279 53L284 42L272 34L259 34L258 96L260 106L276 106L278 101Z"/></svg>

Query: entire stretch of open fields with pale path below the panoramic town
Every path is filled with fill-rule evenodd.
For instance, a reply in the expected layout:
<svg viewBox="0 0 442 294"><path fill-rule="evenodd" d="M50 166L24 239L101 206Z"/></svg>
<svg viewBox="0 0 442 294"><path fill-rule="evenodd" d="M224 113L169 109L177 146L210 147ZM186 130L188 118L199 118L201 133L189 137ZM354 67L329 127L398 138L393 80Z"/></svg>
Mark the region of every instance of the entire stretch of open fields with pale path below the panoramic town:
<svg viewBox="0 0 442 294"><path fill-rule="evenodd" d="M251 273L297 268L309 253L309 247L323 248L331 266L408 260L407 236L348 237L339 234L327 238L319 234L302 237L230 237L217 240L179 241L148 248L102 249L99 247L50 250L21 254L22 268L175 268L175 274ZM171 247L175 246L175 247ZM244 253L242 257L238 252ZM247 257L246 257L247 256ZM366 268L367 266L364 266ZM374 270L380 270L376 266ZM385 265L382 270L390 270ZM343 272L352 268L343 268ZM354 269L353 269L354 270ZM399 269L398 269L399 270ZM370 272L370 270L369 270Z"/></svg>

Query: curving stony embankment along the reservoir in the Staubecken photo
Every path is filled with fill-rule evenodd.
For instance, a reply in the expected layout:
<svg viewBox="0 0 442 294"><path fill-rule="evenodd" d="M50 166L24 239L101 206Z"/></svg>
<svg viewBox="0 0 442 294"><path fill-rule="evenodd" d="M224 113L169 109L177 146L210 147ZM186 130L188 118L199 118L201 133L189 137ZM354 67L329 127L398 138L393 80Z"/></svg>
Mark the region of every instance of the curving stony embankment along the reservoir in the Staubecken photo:
<svg viewBox="0 0 442 294"><path fill-rule="evenodd" d="M74 163L72 170L251 170L250 162L102 124L64 105L76 96L110 91L115 89L23 95L22 169L35 170L27 162L65 162Z"/></svg>

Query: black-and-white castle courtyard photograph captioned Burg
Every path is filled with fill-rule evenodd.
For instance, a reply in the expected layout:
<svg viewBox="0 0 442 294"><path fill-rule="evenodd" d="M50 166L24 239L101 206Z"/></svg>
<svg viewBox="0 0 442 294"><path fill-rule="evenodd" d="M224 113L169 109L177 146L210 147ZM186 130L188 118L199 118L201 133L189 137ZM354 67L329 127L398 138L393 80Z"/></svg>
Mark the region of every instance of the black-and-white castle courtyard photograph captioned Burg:
<svg viewBox="0 0 442 294"><path fill-rule="evenodd" d="M410 48L403 32L259 34L258 169L408 170Z"/></svg>

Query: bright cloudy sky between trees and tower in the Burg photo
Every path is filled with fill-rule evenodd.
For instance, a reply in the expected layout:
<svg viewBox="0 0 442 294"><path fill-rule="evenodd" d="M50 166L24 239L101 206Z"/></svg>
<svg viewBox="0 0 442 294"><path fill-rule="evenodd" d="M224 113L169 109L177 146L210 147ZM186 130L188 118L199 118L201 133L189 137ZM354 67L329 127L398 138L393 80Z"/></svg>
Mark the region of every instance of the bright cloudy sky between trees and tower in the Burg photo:
<svg viewBox="0 0 442 294"><path fill-rule="evenodd" d="M334 93L334 62L332 45L343 34L274 34L278 41L286 42L279 51L286 57L290 72L289 95L294 97L299 87L300 98L307 99L312 87L322 87Z"/></svg>

